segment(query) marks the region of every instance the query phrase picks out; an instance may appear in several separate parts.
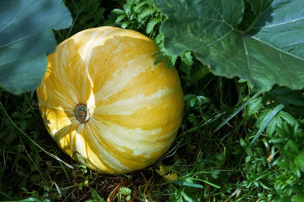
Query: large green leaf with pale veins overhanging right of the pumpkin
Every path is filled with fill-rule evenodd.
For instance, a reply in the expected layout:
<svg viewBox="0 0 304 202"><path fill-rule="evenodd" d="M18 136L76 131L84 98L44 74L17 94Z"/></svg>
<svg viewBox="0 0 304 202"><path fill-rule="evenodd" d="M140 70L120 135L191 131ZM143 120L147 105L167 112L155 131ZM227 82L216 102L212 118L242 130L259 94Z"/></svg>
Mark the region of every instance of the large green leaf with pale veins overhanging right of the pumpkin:
<svg viewBox="0 0 304 202"><path fill-rule="evenodd" d="M154 0L168 16L161 26L168 54L196 52L213 74L239 76L268 91L277 83L304 87L304 1L249 0L256 16L248 33L238 24L243 0Z"/></svg>

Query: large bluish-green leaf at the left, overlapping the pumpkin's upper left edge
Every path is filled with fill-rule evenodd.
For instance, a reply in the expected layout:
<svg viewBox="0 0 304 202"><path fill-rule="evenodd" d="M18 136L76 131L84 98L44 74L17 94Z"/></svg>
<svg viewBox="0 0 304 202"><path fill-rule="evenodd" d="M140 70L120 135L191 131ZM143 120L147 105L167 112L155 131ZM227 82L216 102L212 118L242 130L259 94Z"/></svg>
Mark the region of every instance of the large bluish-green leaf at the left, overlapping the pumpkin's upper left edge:
<svg viewBox="0 0 304 202"><path fill-rule="evenodd" d="M14 94L34 90L55 51L51 29L71 25L61 0L0 1L0 86Z"/></svg>

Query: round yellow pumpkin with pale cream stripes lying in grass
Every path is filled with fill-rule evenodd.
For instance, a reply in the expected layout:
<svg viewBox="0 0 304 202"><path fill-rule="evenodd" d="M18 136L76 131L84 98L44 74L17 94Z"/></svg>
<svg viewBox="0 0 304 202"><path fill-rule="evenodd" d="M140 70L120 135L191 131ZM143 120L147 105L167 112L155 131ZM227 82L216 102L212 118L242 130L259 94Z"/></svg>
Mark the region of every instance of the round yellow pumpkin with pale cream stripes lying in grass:
<svg viewBox="0 0 304 202"><path fill-rule="evenodd" d="M74 160L101 173L155 163L181 124L176 69L153 65L157 45L136 31L98 27L57 45L37 88L45 126Z"/></svg>

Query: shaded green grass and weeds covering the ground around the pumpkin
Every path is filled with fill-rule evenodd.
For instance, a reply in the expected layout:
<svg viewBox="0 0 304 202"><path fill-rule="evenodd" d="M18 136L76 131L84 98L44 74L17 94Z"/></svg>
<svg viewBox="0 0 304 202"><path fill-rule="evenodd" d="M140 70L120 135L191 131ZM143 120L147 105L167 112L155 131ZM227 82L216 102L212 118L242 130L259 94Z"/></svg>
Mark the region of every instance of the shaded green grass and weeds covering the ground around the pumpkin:
<svg viewBox="0 0 304 202"><path fill-rule="evenodd" d="M55 33L58 42L115 25L162 48L158 29L165 17L149 0L64 2L74 22ZM191 52L174 58L161 49L156 56L156 63L164 60L180 73L183 121L166 155L128 175L96 174L72 161L46 131L35 92L0 90L1 200L302 201L302 91L276 86L258 94L247 81L208 74Z"/></svg>

